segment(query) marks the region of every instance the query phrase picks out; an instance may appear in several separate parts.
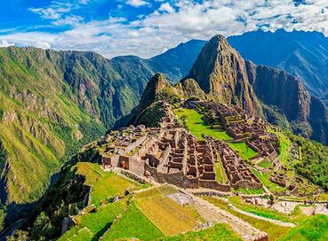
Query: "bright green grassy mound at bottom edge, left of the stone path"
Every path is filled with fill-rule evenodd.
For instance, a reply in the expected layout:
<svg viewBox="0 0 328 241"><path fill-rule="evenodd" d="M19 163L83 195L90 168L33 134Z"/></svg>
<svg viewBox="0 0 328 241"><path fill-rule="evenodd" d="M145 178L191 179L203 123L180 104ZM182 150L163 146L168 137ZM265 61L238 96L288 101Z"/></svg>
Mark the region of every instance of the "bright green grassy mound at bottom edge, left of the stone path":
<svg viewBox="0 0 328 241"><path fill-rule="evenodd" d="M160 238L157 240L164 240L164 241L241 241L242 239L236 235L236 233L231 230L227 224L217 223L209 229L203 229L200 231L190 231L186 234L180 234L175 237L165 237Z"/></svg>

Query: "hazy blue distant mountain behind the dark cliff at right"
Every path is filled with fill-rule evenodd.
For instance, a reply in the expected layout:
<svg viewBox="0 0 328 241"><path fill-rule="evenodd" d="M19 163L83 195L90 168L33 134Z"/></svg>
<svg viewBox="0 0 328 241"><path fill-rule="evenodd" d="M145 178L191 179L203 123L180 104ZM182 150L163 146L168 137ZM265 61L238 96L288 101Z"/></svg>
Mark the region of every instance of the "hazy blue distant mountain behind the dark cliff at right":
<svg viewBox="0 0 328 241"><path fill-rule="evenodd" d="M328 38L317 32L279 29L228 37L245 59L257 65L274 66L300 77L316 97L328 91Z"/></svg>

